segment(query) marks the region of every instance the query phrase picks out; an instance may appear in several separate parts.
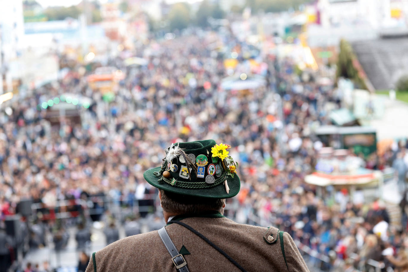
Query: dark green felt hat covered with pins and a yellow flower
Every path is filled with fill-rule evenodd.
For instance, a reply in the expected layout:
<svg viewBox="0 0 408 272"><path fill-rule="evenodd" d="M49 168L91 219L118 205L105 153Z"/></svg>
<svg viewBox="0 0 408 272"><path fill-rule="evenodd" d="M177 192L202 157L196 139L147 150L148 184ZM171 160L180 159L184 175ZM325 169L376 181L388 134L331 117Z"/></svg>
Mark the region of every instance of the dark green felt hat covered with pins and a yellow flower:
<svg viewBox="0 0 408 272"><path fill-rule="evenodd" d="M180 195L234 197L241 184L229 166L237 166L237 163L222 149L225 145L218 148L214 140L172 144L165 150L162 166L147 170L143 177L156 188Z"/></svg>

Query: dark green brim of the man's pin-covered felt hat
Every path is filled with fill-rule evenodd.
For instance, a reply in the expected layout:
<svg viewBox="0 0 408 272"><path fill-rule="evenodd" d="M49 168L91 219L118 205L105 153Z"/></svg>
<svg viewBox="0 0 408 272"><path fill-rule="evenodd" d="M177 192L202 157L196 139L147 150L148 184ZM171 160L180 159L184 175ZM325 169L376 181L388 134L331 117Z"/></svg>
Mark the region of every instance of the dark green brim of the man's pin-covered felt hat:
<svg viewBox="0 0 408 272"><path fill-rule="evenodd" d="M143 173L144 179L151 184L152 186L168 191L168 192L173 192L176 194L180 195L190 195L190 196L196 196L196 197L208 197L208 198L230 198L230 197L235 197L238 192L239 188L241 187L241 182L239 181L238 175L234 175L234 177L228 176L227 182L228 182L228 187L229 187L229 193L227 194L225 190L225 185L224 183L221 183L217 186L211 187L211 188L204 188L204 189L186 189L186 188L180 188L176 186L172 186L167 183L161 183L159 184L157 180L159 179L155 175L153 175L153 172L158 172L160 171L160 167L156 167L150 170L147 170L146 172Z"/></svg>

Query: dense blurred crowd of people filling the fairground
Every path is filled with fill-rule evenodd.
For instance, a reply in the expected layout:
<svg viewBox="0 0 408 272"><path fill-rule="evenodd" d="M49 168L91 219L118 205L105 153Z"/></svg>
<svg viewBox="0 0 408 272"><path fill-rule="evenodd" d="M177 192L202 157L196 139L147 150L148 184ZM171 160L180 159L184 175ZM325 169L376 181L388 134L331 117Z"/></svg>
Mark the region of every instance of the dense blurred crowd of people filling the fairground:
<svg viewBox="0 0 408 272"><path fill-rule="evenodd" d="M341 267L353 271L373 259L404 271L407 231L389 227L384 203L357 201L347 190L333 188L318 196L316 188L304 182L322 147L312 128L330 124L328 103L341 107L333 86L317 83L319 75L312 72L302 77L290 57L261 51L255 58L267 64L262 72L265 86L223 90L220 83L228 76L225 52L213 44L221 44L229 54L238 51L235 72L251 73L242 53L248 45L233 35L184 36L140 44L131 53L145 57L147 65L125 66L122 58L112 57L108 65L126 75L112 102L91 88L76 62L70 62L71 71L63 79L14 100L13 112L0 116L1 220L21 212L21 201L30 200L37 208L33 217L20 222L27 239L5 242L9 248L24 243L38 248L46 244L44 233L51 232L58 252L68 240L64 226L78 224L78 248L86 251L91 241L89 221L106 223L104 233L110 243L119 239L118 218L111 210L118 206L130 209L119 222L129 230L126 234L139 233L137 217L149 216L157 208L152 197L157 192L144 181L144 170L160 166L163 149L173 142L215 139L231 145L230 154L239 161L242 189L235 200L227 201L228 217L239 223L273 224L289 232L332 258L319 264L321 269L344 260ZM47 110L37 106L65 93L91 98L92 103L89 108L78 106L80 120L61 116L55 125L47 119ZM404 185L408 169L404 158L405 147L400 144L372 155L365 166L394 166ZM132 215L134 207L137 215ZM406 226L406 218L404 222Z"/></svg>

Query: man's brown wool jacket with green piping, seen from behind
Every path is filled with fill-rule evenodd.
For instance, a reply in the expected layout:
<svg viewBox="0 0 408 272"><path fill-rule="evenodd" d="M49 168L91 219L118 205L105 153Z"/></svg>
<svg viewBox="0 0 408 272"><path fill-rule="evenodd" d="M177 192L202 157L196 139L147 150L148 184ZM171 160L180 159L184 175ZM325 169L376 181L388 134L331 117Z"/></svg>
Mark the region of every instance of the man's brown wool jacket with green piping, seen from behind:
<svg viewBox="0 0 408 272"><path fill-rule="evenodd" d="M288 233L283 235L286 268L277 228L238 224L220 214L207 216L175 217L173 220L193 227L247 271L309 271ZM190 271L239 271L211 245L183 226L173 223L166 226L166 230L177 250L184 255ZM102 271L175 272L176 268L159 234L152 231L126 237L96 252L86 272Z"/></svg>

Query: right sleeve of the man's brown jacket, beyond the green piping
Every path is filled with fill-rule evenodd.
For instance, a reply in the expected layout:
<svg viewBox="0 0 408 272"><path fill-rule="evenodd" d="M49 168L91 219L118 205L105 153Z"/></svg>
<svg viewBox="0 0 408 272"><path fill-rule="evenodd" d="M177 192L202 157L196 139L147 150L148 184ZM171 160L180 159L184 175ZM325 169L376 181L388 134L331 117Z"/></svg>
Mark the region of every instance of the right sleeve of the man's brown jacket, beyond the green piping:
<svg viewBox="0 0 408 272"><path fill-rule="evenodd" d="M310 272L292 237L287 232L283 234L283 237L286 262L288 263L289 271Z"/></svg>

